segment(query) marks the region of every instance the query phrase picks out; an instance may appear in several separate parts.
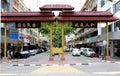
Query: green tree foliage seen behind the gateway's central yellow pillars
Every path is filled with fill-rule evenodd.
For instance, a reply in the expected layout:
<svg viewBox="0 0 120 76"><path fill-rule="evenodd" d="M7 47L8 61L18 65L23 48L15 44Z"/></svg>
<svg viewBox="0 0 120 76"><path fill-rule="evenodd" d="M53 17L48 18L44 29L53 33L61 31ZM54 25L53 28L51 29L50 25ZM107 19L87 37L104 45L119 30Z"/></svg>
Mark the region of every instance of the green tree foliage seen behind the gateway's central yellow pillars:
<svg viewBox="0 0 120 76"><path fill-rule="evenodd" d="M50 23L41 23L41 28L39 32L44 34L50 38ZM58 23L54 22L53 25L53 33L52 33L52 40L53 40L53 47L61 47L62 46L62 26L64 25L64 34L68 35L74 31L71 23Z"/></svg>

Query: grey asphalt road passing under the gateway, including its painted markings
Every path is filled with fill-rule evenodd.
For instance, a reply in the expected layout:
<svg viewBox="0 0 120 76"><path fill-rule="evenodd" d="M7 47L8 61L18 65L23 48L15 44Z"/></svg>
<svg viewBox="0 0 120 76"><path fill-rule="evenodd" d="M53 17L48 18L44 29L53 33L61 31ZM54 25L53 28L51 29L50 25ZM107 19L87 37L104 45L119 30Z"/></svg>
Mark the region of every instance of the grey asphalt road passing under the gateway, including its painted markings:
<svg viewBox="0 0 120 76"><path fill-rule="evenodd" d="M0 76L120 76L120 62L65 53L49 61L49 52L0 64Z"/></svg>

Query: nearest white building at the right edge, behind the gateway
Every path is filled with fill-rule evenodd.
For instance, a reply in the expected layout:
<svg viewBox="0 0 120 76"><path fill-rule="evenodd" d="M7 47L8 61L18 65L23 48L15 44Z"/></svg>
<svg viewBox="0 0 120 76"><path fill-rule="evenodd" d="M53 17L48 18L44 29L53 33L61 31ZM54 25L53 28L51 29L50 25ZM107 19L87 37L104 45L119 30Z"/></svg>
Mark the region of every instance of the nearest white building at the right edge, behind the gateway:
<svg viewBox="0 0 120 76"><path fill-rule="evenodd" d="M99 0L97 6L97 11L108 11L119 18L109 22L109 53L111 57L120 57L120 0ZM105 31L105 27L98 30L101 41L105 39Z"/></svg>

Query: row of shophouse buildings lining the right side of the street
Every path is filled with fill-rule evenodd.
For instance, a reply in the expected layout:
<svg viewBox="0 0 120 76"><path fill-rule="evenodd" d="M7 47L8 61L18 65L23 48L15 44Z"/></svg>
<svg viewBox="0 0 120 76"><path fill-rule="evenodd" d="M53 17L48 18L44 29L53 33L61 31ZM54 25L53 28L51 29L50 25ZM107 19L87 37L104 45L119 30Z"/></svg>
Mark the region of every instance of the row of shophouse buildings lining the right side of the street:
<svg viewBox="0 0 120 76"><path fill-rule="evenodd" d="M81 11L107 11L120 18L120 0L87 0ZM109 55L120 57L120 19L108 23ZM78 28L75 31L75 44L79 47L94 48L101 55L105 48L106 24L97 23L97 28Z"/></svg>

